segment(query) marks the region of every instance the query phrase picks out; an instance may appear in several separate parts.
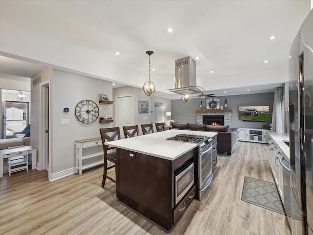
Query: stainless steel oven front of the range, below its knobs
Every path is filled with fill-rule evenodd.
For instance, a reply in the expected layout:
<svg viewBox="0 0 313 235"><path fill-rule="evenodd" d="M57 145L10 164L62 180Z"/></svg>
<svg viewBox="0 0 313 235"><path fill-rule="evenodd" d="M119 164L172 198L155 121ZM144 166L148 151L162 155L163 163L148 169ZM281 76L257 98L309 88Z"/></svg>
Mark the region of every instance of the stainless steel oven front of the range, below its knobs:
<svg viewBox="0 0 313 235"><path fill-rule="evenodd" d="M199 200L212 182L212 144L199 152Z"/></svg>

